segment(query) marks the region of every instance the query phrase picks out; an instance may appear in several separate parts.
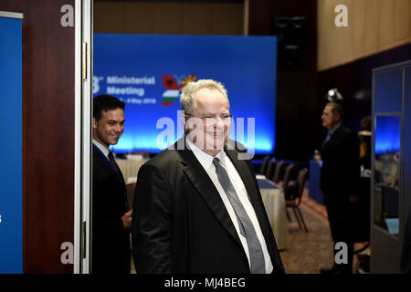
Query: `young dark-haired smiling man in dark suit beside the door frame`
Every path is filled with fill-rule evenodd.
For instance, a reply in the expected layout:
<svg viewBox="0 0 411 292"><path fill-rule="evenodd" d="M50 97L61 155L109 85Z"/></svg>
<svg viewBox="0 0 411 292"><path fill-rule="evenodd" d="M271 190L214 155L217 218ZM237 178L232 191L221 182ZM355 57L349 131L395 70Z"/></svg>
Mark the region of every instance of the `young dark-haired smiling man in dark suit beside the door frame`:
<svg viewBox="0 0 411 292"><path fill-rule="evenodd" d="M130 274L132 211L109 150L124 131L124 107L109 95L93 99L92 273Z"/></svg>

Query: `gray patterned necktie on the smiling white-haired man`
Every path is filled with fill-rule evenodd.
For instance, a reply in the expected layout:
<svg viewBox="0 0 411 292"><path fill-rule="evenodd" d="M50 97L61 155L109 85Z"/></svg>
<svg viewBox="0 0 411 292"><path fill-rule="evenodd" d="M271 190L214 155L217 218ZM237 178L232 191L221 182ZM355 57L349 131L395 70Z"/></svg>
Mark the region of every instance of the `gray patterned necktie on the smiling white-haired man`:
<svg viewBox="0 0 411 292"><path fill-rule="evenodd" d="M243 204L240 202L226 170L220 165L218 158L215 157L213 159L213 164L216 166L218 181L221 183L224 192L226 192L228 201L233 206L240 233L247 239L251 274L265 274L266 264L256 230L254 229Z"/></svg>

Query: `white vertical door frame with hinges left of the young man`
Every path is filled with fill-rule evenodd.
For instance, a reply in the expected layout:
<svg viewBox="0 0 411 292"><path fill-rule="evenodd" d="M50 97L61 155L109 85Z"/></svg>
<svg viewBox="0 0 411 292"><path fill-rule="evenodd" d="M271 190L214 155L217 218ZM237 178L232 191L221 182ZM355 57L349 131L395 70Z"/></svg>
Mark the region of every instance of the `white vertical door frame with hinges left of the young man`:
<svg viewBox="0 0 411 292"><path fill-rule="evenodd" d="M92 0L75 3L74 266L90 273Z"/></svg>

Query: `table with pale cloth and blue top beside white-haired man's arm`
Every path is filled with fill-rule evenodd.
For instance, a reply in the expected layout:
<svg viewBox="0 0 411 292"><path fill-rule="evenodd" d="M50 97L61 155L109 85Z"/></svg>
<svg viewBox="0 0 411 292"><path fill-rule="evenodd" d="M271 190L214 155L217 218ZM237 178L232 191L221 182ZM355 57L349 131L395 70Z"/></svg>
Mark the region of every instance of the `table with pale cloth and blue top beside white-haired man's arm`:
<svg viewBox="0 0 411 292"><path fill-rule="evenodd" d="M277 246L279 250L287 249L289 229L284 191L265 178L258 177L257 182Z"/></svg>

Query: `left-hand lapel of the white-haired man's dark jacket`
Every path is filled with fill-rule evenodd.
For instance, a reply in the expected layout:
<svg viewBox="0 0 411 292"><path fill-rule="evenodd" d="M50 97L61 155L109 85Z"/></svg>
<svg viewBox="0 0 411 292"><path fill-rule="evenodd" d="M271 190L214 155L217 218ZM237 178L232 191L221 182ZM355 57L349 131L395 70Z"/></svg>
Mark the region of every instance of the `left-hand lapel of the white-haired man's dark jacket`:
<svg viewBox="0 0 411 292"><path fill-rule="evenodd" d="M242 248L236 227L231 221L224 202L216 190L216 186L207 172L205 172L203 166L195 158L193 151L180 150L179 154L181 163L184 165L183 171L187 178L195 185L198 193L203 197L213 214L215 214L218 222L227 230L229 235L233 236L237 244Z"/></svg>

